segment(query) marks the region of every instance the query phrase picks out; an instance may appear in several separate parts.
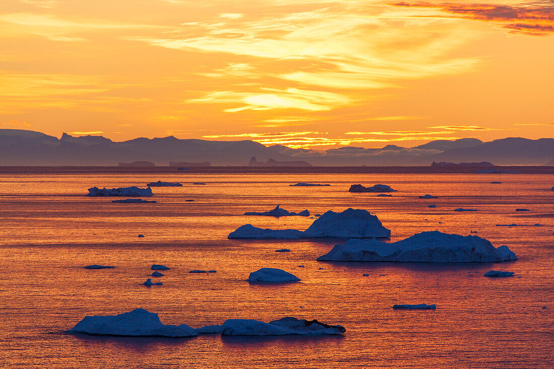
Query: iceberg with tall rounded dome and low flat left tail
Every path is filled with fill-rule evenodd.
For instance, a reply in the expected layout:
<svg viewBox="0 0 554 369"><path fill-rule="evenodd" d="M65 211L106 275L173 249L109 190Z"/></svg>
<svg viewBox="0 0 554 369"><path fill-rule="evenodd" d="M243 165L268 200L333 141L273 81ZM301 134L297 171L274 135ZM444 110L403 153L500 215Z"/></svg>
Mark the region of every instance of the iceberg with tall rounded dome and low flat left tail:
<svg viewBox="0 0 554 369"><path fill-rule="evenodd" d="M384 228L377 216L363 209L348 208L341 213L328 211L304 231L274 230L245 224L229 233L228 238L300 239L300 238L386 238L391 230Z"/></svg>

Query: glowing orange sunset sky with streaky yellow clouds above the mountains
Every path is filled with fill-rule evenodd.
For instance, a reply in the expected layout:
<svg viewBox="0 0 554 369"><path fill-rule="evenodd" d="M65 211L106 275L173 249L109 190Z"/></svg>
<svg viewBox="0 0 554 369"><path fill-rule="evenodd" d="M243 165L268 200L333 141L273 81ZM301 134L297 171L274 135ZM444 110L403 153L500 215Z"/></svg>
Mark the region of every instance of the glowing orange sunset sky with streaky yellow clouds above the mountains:
<svg viewBox="0 0 554 369"><path fill-rule="evenodd" d="M2 0L0 128L416 146L554 137L554 0Z"/></svg>

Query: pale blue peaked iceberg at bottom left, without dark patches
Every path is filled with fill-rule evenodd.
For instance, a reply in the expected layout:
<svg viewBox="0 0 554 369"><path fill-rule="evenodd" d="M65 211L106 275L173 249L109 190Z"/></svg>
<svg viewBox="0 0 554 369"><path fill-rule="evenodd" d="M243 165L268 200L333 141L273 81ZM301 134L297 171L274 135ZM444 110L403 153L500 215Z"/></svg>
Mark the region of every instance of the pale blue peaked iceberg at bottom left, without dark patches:
<svg viewBox="0 0 554 369"><path fill-rule="evenodd" d="M118 315L85 316L69 330L103 336L153 336L193 337L198 334L188 327L162 324L158 314L144 309L135 309Z"/></svg>

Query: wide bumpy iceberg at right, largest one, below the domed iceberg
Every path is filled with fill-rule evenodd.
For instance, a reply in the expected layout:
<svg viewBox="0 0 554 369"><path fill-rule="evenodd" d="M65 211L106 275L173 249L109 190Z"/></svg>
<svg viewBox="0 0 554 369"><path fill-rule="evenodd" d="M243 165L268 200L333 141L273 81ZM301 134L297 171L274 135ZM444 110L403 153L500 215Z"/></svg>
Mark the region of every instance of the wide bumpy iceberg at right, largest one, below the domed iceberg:
<svg viewBox="0 0 554 369"><path fill-rule="evenodd" d="M421 232L412 237L384 243L376 239L350 239L338 244L319 258L336 262L435 262L470 263L516 260L516 255L502 245L495 248L488 240L474 236Z"/></svg>

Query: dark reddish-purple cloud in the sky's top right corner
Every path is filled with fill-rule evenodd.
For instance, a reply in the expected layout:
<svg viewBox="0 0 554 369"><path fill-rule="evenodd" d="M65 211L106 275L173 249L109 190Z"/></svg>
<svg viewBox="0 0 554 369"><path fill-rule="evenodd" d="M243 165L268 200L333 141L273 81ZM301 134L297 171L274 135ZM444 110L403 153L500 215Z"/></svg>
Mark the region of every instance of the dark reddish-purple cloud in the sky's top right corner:
<svg viewBox="0 0 554 369"><path fill-rule="evenodd" d="M475 3L398 2L398 7L434 8L465 19L494 22L510 33L544 36L554 32L554 3L538 1L517 5Z"/></svg>

